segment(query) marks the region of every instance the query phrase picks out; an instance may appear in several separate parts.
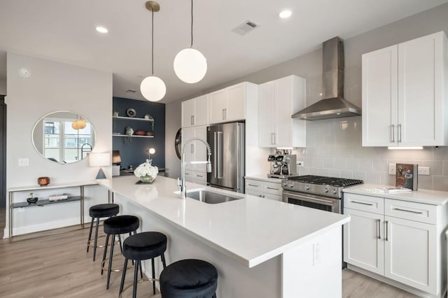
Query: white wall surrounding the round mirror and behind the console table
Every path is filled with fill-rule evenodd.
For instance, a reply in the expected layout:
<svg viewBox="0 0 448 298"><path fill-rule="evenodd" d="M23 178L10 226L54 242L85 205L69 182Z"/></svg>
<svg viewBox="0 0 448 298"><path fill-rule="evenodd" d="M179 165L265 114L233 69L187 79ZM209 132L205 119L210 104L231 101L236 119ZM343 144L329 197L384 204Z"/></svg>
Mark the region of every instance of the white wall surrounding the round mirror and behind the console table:
<svg viewBox="0 0 448 298"><path fill-rule="evenodd" d="M89 166L88 158L74 164L57 164L39 155L33 147L31 131L36 121L47 113L73 111L85 116L96 129L97 139L93 151L111 152L112 74L13 53L8 53L7 61L7 187L37 185L37 178L40 176L49 176L51 185L94 180L98 169ZM22 67L29 69L31 76L19 76L18 69ZM18 166L19 158L28 158L29 166ZM106 176L111 177L109 167L104 168L104 171ZM102 187L88 189L87 199L107 201ZM39 196L39 192L34 195ZM26 197L29 197L28 192L18 193L14 201L25 201ZM70 220L66 214L68 208L73 211L70 204L39 208L38 216L54 221L56 227L58 222ZM92 203L87 200L87 211L90 204ZM15 216L18 220L15 227L32 226L33 220L36 220L33 215L36 213L35 209L36 207L17 210L20 216ZM74 211L72 216L73 220L78 220L79 213ZM20 218L26 220L20 222ZM30 231L27 228L20 229L20 232Z"/></svg>

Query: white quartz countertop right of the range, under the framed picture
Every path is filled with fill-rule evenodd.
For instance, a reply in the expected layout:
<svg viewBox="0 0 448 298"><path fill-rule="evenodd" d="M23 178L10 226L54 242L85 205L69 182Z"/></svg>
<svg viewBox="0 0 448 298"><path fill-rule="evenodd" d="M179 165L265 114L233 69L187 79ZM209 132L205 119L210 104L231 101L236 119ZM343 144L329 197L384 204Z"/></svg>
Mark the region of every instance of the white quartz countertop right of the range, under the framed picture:
<svg viewBox="0 0 448 298"><path fill-rule="evenodd" d="M400 201L414 201L416 203L430 205L444 205L448 202L448 192L438 190L416 190L410 192L384 192L391 185L362 184L344 188L344 192L350 194L363 194L373 197L384 197L386 199L398 199Z"/></svg>

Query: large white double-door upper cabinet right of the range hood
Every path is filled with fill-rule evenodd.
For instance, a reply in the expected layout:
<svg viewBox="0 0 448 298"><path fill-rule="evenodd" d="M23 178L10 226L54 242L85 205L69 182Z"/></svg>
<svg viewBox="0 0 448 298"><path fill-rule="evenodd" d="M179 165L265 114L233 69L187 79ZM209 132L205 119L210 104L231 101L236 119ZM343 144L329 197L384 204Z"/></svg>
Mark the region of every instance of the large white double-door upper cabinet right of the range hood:
<svg viewBox="0 0 448 298"><path fill-rule="evenodd" d="M363 55L363 146L447 146L443 31Z"/></svg>

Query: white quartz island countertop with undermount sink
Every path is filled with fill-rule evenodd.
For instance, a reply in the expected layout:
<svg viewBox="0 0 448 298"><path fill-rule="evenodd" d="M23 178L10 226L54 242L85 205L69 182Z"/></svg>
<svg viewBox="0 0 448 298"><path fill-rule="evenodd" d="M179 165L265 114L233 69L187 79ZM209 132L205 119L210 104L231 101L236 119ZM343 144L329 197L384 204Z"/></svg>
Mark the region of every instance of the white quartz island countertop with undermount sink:
<svg viewBox="0 0 448 298"><path fill-rule="evenodd" d="M349 222L347 215L260 199L248 194L187 183L187 191L207 189L243 199L222 204L182 200L177 181L158 176L152 184L139 184L134 176L97 180L149 212L170 222L207 245L247 267L254 267L300 246L330 229Z"/></svg>

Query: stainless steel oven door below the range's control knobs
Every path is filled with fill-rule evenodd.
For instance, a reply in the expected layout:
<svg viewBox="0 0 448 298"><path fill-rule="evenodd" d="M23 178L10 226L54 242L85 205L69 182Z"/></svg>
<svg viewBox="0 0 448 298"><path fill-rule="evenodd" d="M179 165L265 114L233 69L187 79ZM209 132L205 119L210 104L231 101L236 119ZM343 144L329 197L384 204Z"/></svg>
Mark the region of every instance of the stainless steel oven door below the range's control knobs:
<svg viewBox="0 0 448 298"><path fill-rule="evenodd" d="M283 201L290 204L341 213L341 199L283 190Z"/></svg>

